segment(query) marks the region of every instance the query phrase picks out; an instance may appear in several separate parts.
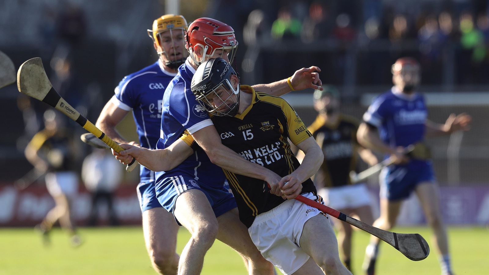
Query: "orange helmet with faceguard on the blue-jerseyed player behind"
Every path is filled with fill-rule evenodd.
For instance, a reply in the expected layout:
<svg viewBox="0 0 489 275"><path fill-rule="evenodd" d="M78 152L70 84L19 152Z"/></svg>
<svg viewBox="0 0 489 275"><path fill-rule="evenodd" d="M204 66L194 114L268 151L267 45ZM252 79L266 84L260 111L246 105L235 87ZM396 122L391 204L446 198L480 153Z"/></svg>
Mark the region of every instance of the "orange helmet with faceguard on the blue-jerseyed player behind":
<svg viewBox="0 0 489 275"><path fill-rule="evenodd" d="M148 30L148 35L156 44L156 52L160 55L161 61L170 69L177 69L180 65L185 63L185 59L188 56L188 52L183 49L184 44L178 45L178 41L174 40L176 33L182 35L182 39L187 32L187 21L181 15L166 14L156 19L153 22L153 29ZM171 43L168 52L162 45L164 43ZM178 50L178 46L180 49ZM177 55L181 54L178 58ZM165 57L166 60L164 60ZM171 60L170 57L173 57ZM178 59L177 59L178 58Z"/></svg>

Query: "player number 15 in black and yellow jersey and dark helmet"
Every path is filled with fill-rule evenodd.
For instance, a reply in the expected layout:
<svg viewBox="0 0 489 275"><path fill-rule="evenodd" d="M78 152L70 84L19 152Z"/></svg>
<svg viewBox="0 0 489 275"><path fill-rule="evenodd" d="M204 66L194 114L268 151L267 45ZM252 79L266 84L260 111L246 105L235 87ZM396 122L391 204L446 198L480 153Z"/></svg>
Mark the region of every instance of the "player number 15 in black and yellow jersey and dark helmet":
<svg viewBox="0 0 489 275"><path fill-rule="evenodd" d="M351 275L341 264L326 216L293 200L302 194L322 202L310 177L323 155L292 107L282 98L240 86L234 69L221 58L200 65L192 79L192 92L199 107L212 115L222 144L283 177L268 190L263 180L224 171L240 219L265 259L285 275ZM288 138L305 152L302 165L292 155ZM121 155L129 153L143 161L142 165L161 169L175 165L171 160L176 156L189 154L189 150L192 154L194 146L198 145L192 137L183 135L167 151L127 146Z"/></svg>

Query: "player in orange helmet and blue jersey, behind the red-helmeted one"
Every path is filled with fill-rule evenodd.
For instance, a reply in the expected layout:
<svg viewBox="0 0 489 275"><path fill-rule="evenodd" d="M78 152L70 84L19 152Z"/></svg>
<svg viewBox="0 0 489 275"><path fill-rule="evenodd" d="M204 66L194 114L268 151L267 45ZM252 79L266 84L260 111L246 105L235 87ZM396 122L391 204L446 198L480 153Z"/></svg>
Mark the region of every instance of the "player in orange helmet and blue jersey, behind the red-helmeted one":
<svg viewBox="0 0 489 275"><path fill-rule="evenodd" d="M105 105L97 120L97 127L113 140L128 143L115 130L115 126L133 111L139 136L138 146L155 149L161 124L161 102L168 83L177 75L178 67L185 62L188 51L184 46L187 22L181 15L167 14L153 23L148 34L159 55L151 66L122 79L115 95ZM171 213L156 199L155 172L140 166L140 183L137 194L143 216L146 248L155 270L164 275L175 275L178 269L178 225Z"/></svg>

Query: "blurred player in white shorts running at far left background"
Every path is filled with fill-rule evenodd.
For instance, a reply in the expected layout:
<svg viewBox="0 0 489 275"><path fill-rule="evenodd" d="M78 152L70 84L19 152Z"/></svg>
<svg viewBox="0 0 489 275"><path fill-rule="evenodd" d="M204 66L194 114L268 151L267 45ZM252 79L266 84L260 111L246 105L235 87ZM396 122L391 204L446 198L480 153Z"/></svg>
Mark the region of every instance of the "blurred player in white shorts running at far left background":
<svg viewBox="0 0 489 275"><path fill-rule="evenodd" d="M45 127L27 144L25 157L38 171L46 172L47 191L56 203L36 230L48 245L49 231L59 221L71 237L71 244L76 247L81 244L81 239L76 234L70 207L78 193L78 176L72 170L75 156L73 136L65 128L64 119L62 114L47 110L44 113Z"/></svg>

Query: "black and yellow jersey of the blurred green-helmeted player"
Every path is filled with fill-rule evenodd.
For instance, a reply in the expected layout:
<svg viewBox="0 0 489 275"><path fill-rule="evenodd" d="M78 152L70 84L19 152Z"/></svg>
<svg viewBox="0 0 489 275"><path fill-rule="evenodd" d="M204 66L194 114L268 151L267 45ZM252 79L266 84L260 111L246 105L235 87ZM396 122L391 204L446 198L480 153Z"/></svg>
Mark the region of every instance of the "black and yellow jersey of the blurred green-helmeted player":
<svg viewBox="0 0 489 275"><path fill-rule="evenodd" d="M336 125L325 125L321 115L308 127L323 150L324 161L320 172L325 187L351 184L349 173L357 169L358 142L356 130L360 121L349 115L340 115ZM322 178L322 177L321 177Z"/></svg>

